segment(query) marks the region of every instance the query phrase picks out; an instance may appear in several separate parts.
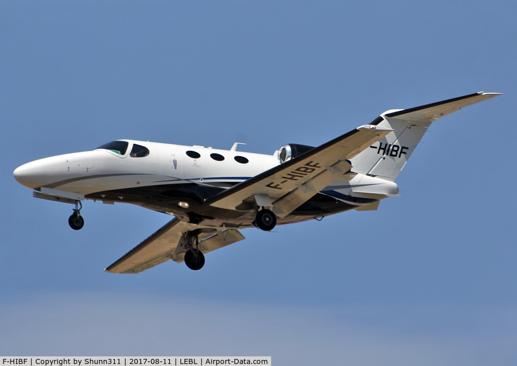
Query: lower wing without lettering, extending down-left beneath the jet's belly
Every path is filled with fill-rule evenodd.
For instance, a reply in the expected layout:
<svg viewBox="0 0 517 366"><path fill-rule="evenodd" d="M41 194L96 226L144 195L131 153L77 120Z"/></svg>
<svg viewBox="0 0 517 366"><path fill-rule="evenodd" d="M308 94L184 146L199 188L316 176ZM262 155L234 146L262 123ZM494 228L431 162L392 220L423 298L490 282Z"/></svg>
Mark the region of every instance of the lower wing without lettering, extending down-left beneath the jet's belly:
<svg viewBox="0 0 517 366"><path fill-rule="evenodd" d="M194 229L205 230L199 234L199 249L203 254L245 239L236 229L219 229L194 225L172 219L149 238L135 246L126 255L105 269L111 273L139 273L168 260L183 262L185 233Z"/></svg>

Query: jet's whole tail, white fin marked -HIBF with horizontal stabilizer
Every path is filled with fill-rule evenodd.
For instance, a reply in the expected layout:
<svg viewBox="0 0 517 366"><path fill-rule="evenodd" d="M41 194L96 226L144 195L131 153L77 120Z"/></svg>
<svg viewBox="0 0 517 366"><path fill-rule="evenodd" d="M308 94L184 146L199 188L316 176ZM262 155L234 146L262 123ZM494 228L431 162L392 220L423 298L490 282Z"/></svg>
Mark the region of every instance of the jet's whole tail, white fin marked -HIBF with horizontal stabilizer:
<svg viewBox="0 0 517 366"><path fill-rule="evenodd" d="M384 112L370 124L394 131L353 157L352 171L394 181L432 122L497 95L501 94L479 92L421 107Z"/></svg>

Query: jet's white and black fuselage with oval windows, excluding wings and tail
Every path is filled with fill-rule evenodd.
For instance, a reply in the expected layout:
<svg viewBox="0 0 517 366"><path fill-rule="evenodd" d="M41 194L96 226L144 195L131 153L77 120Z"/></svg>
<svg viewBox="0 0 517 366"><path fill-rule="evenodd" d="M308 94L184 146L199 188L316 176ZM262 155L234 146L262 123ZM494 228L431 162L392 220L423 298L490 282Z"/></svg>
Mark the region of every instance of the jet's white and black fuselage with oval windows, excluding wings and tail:
<svg viewBox="0 0 517 366"><path fill-rule="evenodd" d="M209 206L205 200L280 164L278 152L264 155L135 140L118 142L127 143L125 149L104 148L35 160L16 169L14 177L43 194L131 203L185 222L244 228L253 225L254 202L242 210L226 210ZM377 189L382 185L382 192L398 193L393 182L355 174L351 180L334 182L278 224L357 209L386 197L355 194L355 183L361 180L362 185L368 180Z"/></svg>

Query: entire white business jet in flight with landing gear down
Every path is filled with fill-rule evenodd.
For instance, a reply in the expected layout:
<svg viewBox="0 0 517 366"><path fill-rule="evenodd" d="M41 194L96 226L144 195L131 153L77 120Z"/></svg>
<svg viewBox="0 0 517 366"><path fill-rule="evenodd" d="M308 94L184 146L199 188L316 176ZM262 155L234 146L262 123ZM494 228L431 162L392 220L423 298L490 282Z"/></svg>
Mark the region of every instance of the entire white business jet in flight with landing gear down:
<svg viewBox="0 0 517 366"><path fill-rule="evenodd" d="M476 93L389 110L318 147L286 144L272 155L135 140L27 163L14 178L33 196L75 204L68 223L84 225L81 201L132 203L175 216L105 271L138 273L170 259L199 270L204 254L270 231L348 210L376 210L397 196L394 182L432 122L500 93Z"/></svg>

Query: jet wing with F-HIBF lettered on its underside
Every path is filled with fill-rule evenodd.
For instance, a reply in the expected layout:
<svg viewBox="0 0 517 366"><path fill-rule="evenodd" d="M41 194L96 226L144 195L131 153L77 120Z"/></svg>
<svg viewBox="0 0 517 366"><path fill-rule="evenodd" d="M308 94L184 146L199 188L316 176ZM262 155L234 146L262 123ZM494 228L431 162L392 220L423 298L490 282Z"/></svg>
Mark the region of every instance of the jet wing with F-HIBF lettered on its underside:
<svg viewBox="0 0 517 366"><path fill-rule="evenodd" d="M272 207L285 217L327 185L348 172L347 159L393 131L390 128L364 125L324 143L294 159L210 198L206 203L229 210Z"/></svg>

